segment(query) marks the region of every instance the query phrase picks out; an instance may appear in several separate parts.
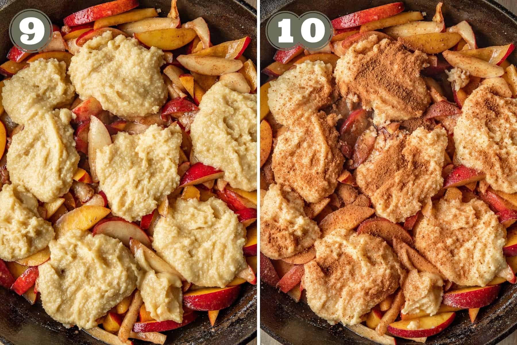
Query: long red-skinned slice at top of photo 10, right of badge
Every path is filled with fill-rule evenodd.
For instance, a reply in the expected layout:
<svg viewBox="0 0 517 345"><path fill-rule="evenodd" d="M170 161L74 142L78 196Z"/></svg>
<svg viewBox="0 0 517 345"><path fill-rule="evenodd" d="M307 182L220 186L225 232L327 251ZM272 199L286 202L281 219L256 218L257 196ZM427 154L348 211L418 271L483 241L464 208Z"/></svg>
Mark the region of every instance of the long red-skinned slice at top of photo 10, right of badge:
<svg viewBox="0 0 517 345"><path fill-rule="evenodd" d="M355 27L369 22L378 21L392 17L404 10L403 3L392 3L382 6L369 8L362 11L346 14L345 16L332 20L332 26L336 29Z"/></svg>

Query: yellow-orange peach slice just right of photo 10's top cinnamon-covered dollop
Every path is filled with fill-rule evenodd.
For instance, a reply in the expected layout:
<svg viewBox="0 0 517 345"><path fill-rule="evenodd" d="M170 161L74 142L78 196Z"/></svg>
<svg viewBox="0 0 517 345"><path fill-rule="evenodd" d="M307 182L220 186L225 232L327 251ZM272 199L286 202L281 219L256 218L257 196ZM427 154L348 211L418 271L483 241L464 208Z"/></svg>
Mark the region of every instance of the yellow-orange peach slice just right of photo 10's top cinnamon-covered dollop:
<svg viewBox="0 0 517 345"><path fill-rule="evenodd" d="M411 50L420 50L427 54L442 53L447 49L454 47L460 39L460 34L439 32L400 37L400 41L407 48ZM450 61L448 62L450 63Z"/></svg>

